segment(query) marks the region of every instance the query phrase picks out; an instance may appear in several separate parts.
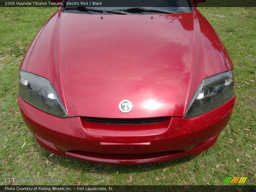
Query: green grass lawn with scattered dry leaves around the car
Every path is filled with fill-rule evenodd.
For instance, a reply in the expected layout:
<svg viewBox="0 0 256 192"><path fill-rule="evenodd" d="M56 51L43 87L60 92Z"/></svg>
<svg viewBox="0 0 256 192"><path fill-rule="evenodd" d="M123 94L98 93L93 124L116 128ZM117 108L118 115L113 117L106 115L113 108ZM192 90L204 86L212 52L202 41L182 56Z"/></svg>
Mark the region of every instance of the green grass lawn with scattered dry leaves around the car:
<svg viewBox="0 0 256 192"><path fill-rule="evenodd" d="M23 123L16 99L19 65L29 43L55 10L0 8L1 185L6 177L62 179L59 184L66 185L221 185L225 177L234 176L246 176L247 184L256 184L255 8L200 8L226 45L236 74L233 116L217 143L197 156L136 166L49 157L50 152L37 144Z"/></svg>

